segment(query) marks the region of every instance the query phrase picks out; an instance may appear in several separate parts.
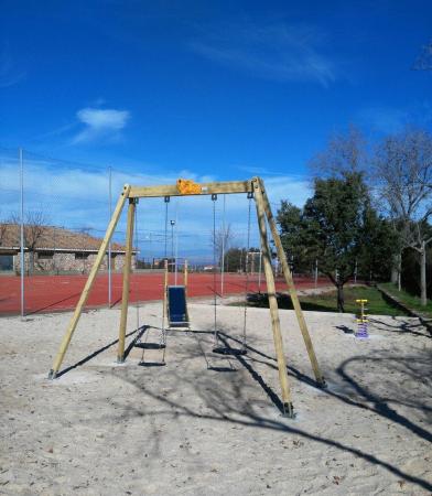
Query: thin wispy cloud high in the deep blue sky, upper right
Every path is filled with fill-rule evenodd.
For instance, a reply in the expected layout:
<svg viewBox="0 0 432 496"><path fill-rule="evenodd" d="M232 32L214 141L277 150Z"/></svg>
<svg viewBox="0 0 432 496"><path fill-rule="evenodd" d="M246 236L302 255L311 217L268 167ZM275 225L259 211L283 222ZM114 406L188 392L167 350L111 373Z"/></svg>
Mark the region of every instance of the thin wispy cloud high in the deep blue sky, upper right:
<svg viewBox="0 0 432 496"><path fill-rule="evenodd" d="M208 32L191 43L194 52L255 76L323 86L338 76L335 63L324 54L323 34L313 26L241 22Z"/></svg>

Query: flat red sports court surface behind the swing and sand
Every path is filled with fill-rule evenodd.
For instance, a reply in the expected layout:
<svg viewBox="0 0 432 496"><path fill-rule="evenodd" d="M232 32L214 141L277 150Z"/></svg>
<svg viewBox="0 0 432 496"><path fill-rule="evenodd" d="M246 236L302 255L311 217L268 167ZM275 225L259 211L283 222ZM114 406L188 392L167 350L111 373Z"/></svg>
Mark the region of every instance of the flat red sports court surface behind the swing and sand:
<svg viewBox="0 0 432 496"><path fill-rule="evenodd" d="M25 314L48 313L75 308L79 294L87 280L87 276L30 276L24 278ZM220 276L217 274L216 291L220 291ZM314 281L307 278L294 278L298 289L313 288ZM182 274L179 273L179 284L182 283ZM170 283L174 283L174 274L170 274ZM0 314L19 314L20 303L20 277L0 277ZM326 279L320 279L318 285L326 285ZM112 304L121 301L122 274L111 277ZM246 276L226 273L224 279L224 293L244 293ZM277 280L278 291L287 289L282 279ZM261 291L266 291L266 279L261 279ZM258 292L257 274L249 277L249 292ZM190 273L188 296L213 296L213 273ZM163 296L163 273L133 273L130 283L130 302L145 302L161 300ZM87 308L108 305L108 274L97 277L91 289Z"/></svg>

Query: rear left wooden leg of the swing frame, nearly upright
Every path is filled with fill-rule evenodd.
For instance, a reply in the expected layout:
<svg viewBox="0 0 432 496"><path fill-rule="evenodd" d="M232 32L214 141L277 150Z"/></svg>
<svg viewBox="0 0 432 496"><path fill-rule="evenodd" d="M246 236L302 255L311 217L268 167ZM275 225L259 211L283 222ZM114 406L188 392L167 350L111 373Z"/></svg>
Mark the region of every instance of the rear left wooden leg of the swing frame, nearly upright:
<svg viewBox="0 0 432 496"><path fill-rule="evenodd" d="M117 348L117 362L119 364L122 364L125 362L125 337L126 337L126 326L128 323L130 266L132 260L132 248L133 248L133 220L136 214L136 204L137 204L136 198L129 198L128 225L126 228L126 255L123 265L123 288L121 295L119 344Z"/></svg>

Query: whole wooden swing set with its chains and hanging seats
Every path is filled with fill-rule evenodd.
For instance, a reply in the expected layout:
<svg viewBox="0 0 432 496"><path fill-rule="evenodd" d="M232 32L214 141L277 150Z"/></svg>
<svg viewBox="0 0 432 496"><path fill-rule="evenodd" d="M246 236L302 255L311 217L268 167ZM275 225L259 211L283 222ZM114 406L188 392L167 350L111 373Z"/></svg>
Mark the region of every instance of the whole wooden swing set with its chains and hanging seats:
<svg viewBox="0 0 432 496"><path fill-rule="evenodd" d="M279 319L278 300L276 293L274 276L271 266L271 255L269 249L269 240L267 234L267 224L270 228L271 236L274 241L277 249L277 256L279 262L282 267L282 272L288 285L288 290L294 306L295 316L299 322L299 327L305 343L307 355L312 365L312 369L315 376L316 384L320 387L325 387L325 379L321 373L315 351L311 341L311 336L307 331L307 326L303 316L302 309L300 306L300 301L295 291L294 282L290 271L290 267L287 261L287 256L283 250L277 224L271 212L270 203L266 193L263 181L260 177L252 177L247 181L235 181L235 182L214 182L214 183L202 183L197 184L190 180L179 180L176 184L173 185L160 185L160 186L132 186L126 184L120 193L119 200L117 202L116 208L112 213L112 217L108 224L107 231L105 234L104 240L100 245L98 255L96 257L95 263L90 270L87 282L83 289L78 303L75 308L74 314L71 319L69 325L66 330L66 334L63 337L58 353L54 359L52 369L48 373L48 378L54 379L57 377L60 367L62 366L64 356L71 343L72 336L78 324L79 317L83 313L84 305L87 302L89 292L95 282L97 272L102 262L102 259L107 252L108 244L114 235L117 223L120 218L120 214L125 206L126 201L129 202L128 216L127 216L127 233L126 233L126 259L123 266L123 284L122 284L122 299L121 299L121 315L120 315L120 326L119 326L119 339L118 339L118 352L117 362L125 362L125 339L126 339L126 327L128 319L128 306L129 306L129 288L130 288L130 272L131 272L131 259L132 259L132 239L133 239L133 225L136 222L136 209L139 198L148 197L163 197L165 201L165 216L168 215L168 203L171 196L184 196L184 195L210 195L213 201L213 219L214 219L214 233L216 224L215 215L215 202L218 194L247 194L249 198L249 223L248 223L248 245L250 238L250 204L251 200L255 200L258 227L261 241L262 261L264 276L267 281L267 293L269 300L269 309L271 316L271 327L273 334L274 351L278 363L279 370L279 382L281 386L281 397L283 405L283 413L287 417L294 417L292 400L291 400L291 389L288 380L287 362L283 353L283 342L281 334L281 325ZM166 229L166 223L165 223ZM166 237L165 237L166 244ZM214 248L215 249L215 248ZM166 247L165 247L166 251ZM215 255L215 252L214 252ZM246 290L248 285L248 270L246 280ZM165 347L165 317L168 317L169 326L179 326L188 328L188 314L186 305L186 288L187 288L187 262L185 262L184 271L184 284L173 285L168 284L168 259L165 257L165 274L164 274L164 300L163 300L163 315L162 315L162 336L160 347ZM214 272L216 278L216 272ZM216 279L214 279L214 282ZM215 343L214 353L220 354L245 354L246 353L246 304L245 304L245 320L244 320L244 338L242 346L239 349L227 348L218 346L218 331L217 331L217 305L216 305L216 284L214 288L215 298L215 313L214 313L214 324L215 324ZM180 310L180 312L179 312ZM177 312L177 313L175 313ZM180 320L179 320L180 319ZM139 332L139 330L138 330ZM144 346L142 346L144 348Z"/></svg>

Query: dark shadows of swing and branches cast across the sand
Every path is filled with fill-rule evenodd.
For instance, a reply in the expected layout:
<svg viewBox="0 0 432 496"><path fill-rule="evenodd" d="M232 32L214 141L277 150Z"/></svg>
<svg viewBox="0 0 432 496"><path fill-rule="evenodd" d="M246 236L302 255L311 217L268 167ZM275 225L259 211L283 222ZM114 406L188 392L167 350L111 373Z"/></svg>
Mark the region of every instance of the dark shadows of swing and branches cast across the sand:
<svg viewBox="0 0 432 496"><path fill-rule="evenodd" d="M127 353L129 354L132 347L136 345L137 341L142 336L142 334L148 330L148 326L140 327L131 333L128 334L128 336L134 337L131 339ZM208 334L212 333L209 331L187 331L185 332L186 335L194 335L194 334ZM425 337L423 335L423 337ZM230 346L230 343L239 344L240 341L236 337L231 336L227 331L220 331L219 332L219 338L222 339L223 344L225 346ZM61 377L62 375L86 364L87 362L91 360L94 357L99 355L100 353L105 352L109 347L114 346L117 343L117 339L107 344L102 348L94 352L93 354L88 355L87 357L83 358L82 360L77 362L76 364L63 369L57 377ZM233 360L236 360L236 363L245 369L250 377L253 379L253 382L259 385L262 391L267 395L267 397L271 400L271 402L278 408L279 411L283 411L282 400L279 397L279 395L266 382L264 378L258 373L256 365L260 366L267 366L274 371L277 370L277 360L276 357L270 356L262 351L260 351L258 347L253 347L248 345L248 355L247 357L242 355L235 355L231 357ZM195 356L202 355L204 352L202 346L196 346L196 352L193 353ZM190 359L188 357L187 359ZM205 356L206 360L207 357ZM186 359L186 358L185 358ZM356 380L352 374L349 374L348 369L350 366L361 363L361 367L367 367L367 364L365 365L365 362L370 360L370 363L380 364L380 367L382 369L382 374L391 374L392 369L398 369L399 371L401 368L403 369L403 373L407 374L409 377L411 377L414 380L430 380L429 378L432 376L432 360L430 357L407 357L407 356L384 356L384 357L369 357L369 356L356 356L353 358L349 358L337 367L336 374L341 379L341 382L346 387L349 391L355 391L355 398L353 399L353 395L348 393L339 393L336 390L332 389L332 384L327 389L321 389L322 395L328 395L332 398L335 398L336 400L349 406L353 408L352 418L356 418L358 416L358 410L367 410L369 412L374 412L377 416L380 416L385 419L387 419L389 422L396 423L414 435L418 435L420 439L432 442L432 434L423 429L422 427L415 424L407 417L402 416L401 413L397 412L395 408L391 407L391 403L396 405L402 405L409 408L413 408L417 410L422 411L424 414L429 414L431 412L431 408L426 406L425 402L421 401L413 401L409 399L404 399L403 391L400 391L400 398L387 398L379 396L375 393L370 388L366 387L365 385L361 385L358 380ZM208 362L207 362L207 368ZM233 367L230 367L230 371L233 371ZM213 370L217 370L213 369ZM315 380L311 379L310 377L305 376L301 371L299 371L296 368L290 366L288 367L289 375L291 377L295 377L296 380L307 384L312 387L317 387ZM234 369L235 371L235 369ZM410 482L412 484L415 484L417 486L426 489L432 490L432 484L428 482L426 479L423 479L421 477L413 476L407 472L403 472L398 466L385 461L380 460L376 455L368 453L366 451L363 451L357 448L353 448L346 444L343 444L342 442L336 441L335 439L330 439L325 436L320 436L313 433L310 433L305 430L299 429L295 427L295 422L287 421L285 419L281 420L274 420L273 418L264 417L260 414L259 408L262 407L262 401L257 400L250 400L247 395L247 390L250 387L253 387L253 384L251 386L247 386L244 382L238 382L235 379L233 379L229 382L230 389L228 390L227 387L224 388L224 382L222 381L215 381L214 376L201 376L202 381L197 382L194 380L192 381L185 377L184 374L179 375L175 370L170 369L170 384L173 388L175 388L175 384L179 382L191 382L191 387L193 387L193 390L199 397L202 402L207 408L207 413L203 413L198 409L194 409L190 406L190 401L184 402L177 402L173 401L170 398L168 398L163 393L158 393L151 390L151 386L147 387L142 384L142 380L140 380L140 375L134 374L136 377L131 377L129 374L126 373L125 369L116 368L109 371L109 374L114 375L116 378L123 380L128 382L129 385L133 386L136 388L136 391L138 395L142 395L142 397L149 397L154 400L156 400L161 405L161 409L158 410L158 416L166 414L166 416L175 416L175 417L190 417L190 418L199 418L199 419L207 419L207 420L214 420L214 421L220 421L220 422L227 422L231 424L239 424L244 427L250 427L250 428L257 428L257 429L268 429L272 431L281 431L285 433L295 434L299 436L302 436L306 440L311 440L314 442L317 442L320 444L332 446L337 450L341 450L343 452L350 453L355 456L358 456L363 459L364 461L381 466L382 468L387 470L388 472L392 473L393 475ZM224 377L236 377L236 375L229 375ZM229 380L229 379L228 379ZM179 386L180 387L180 386ZM141 403L141 401L137 401L137 403ZM145 401L148 403L148 401ZM166 407L166 408L163 408ZM147 412L143 408L137 408L134 406L128 405L128 407L125 407L125 413L122 417L150 417L154 414L154 411ZM161 435L160 433L154 432L154 435ZM156 442L156 440L155 440ZM159 443L158 443L159 444Z"/></svg>

